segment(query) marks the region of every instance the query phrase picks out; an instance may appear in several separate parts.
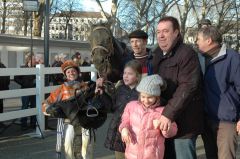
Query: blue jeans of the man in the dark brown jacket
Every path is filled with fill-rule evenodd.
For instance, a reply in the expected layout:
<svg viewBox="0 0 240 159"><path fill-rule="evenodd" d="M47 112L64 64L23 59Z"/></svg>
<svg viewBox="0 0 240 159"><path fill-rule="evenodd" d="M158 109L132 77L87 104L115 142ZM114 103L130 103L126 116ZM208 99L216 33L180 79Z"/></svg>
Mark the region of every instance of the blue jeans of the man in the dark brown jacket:
<svg viewBox="0 0 240 159"><path fill-rule="evenodd" d="M196 159L197 136L190 139L174 139L176 159Z"/></svg>

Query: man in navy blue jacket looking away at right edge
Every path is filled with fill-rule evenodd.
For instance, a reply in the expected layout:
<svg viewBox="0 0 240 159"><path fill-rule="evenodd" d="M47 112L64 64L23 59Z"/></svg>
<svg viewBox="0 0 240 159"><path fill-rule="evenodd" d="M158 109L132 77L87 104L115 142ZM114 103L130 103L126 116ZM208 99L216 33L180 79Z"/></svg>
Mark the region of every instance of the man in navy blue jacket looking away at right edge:
<svg viewBox="0 0 240 159"><path fill-rule="evenodd" d="M206 155L235 159L240 133L240 54L222 44L222 35L213 26L199 30L197 45L205 57Z"/></svg>

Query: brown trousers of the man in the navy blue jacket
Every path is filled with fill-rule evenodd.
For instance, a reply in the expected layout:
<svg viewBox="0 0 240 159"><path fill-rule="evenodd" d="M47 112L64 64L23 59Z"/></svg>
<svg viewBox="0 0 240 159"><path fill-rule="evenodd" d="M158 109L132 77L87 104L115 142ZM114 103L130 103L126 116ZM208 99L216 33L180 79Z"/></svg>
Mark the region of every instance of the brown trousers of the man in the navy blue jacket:
<svg viewBox="0 0 240 159"><path fill-rule="evenodd" d="M236 123L215 122L206 119L202 139L207 159L236 158Z"/></svg>

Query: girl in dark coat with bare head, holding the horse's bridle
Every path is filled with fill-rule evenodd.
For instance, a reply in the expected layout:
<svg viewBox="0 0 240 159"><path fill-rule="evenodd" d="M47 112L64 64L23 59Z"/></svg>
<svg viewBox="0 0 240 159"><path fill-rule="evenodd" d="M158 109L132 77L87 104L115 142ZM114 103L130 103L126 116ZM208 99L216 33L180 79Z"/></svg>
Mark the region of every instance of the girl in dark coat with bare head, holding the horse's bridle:
<svg viewBox="0 0 240 159"><path fill-rule="evenodd" d="M123 73L123 81L116 90L116 95L112 103L113 117L109 124L107 137L105 140L105 147L115 151L116 159L124 159L125 144L122 142L121 134L118 132L118 127L121 122L121 116L126 104L132 100L137 100L138 92L136 86L141 79L142 68L141 64L132 60L126 63ZM101 91L99 87L102 86L103 79L97 80L97 90Z"/></svg>

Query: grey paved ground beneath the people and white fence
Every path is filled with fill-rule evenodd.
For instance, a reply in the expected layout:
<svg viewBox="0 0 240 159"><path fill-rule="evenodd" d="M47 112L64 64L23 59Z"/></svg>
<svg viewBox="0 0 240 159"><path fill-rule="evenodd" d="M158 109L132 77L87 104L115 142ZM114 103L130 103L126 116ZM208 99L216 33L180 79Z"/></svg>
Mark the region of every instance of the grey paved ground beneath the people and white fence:
<svg viewBox="0 0 240 159"><path fill-rule="evenodd" d="M8 109L18 109L16 102L8 100L5 103L12 105ZM7 110L7 109L6 109ZM104 148L103 143L106 136L109 119L97 131L97 141L94 158L96 159L114 159L113 152ZM9 125L7 128L0 127L0 159L55 159L56 131L48 130L45 132L45 138L34 137L35 131L28 129L21 130L19 120L5 122ZM49 127L55 128L56 120L49 120ZM238 159L240 159L238 151ZM198 159L205 159L202 140L197 140Z"/></svg>

